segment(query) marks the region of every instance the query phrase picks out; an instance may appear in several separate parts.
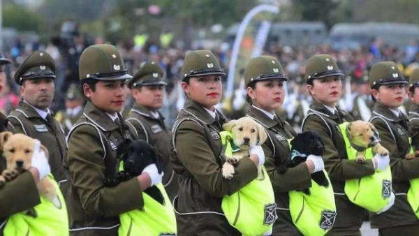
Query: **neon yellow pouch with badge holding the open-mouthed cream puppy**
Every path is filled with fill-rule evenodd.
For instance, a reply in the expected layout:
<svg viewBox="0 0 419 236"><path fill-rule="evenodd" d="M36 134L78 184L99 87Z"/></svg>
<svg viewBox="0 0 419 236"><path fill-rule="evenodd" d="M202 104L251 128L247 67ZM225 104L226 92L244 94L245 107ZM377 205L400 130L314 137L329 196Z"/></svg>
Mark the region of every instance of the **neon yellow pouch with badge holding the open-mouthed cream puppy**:
<svg viewBox="0 0 419 236"><path fill-rule="evenodd" d="M231 156L233 148L230 141L233 135L221 131L220 136L226 156ZM262 179L253 179L239 191L224 196L221 203L228 223L243 235L270 235L272 225L277 220L274 189L264 166L262 173Z"/></svg>

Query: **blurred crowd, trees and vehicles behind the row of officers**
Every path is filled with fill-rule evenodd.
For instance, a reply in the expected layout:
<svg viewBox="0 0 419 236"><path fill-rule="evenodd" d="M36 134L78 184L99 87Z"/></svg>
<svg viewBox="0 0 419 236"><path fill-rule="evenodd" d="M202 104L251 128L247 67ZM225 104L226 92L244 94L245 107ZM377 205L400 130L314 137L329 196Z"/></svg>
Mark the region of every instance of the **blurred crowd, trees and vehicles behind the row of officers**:
<svg viewBox="0 0 419 236"><path fill-rule="evenodd" d="M209 49L229 71L233 42L246 13L258 4L279 7L279 13L253 17L240 42L234 70L233 95L220 107L230 117L243 112L242 74L257 54L279 59L286 75L286 101L281 114L299 130L307 112L304 61L317 53L336 57L346 73L339 106L367 119L367 72L377 61L389 60L409 77L419 62L417 0L3 0L1 52L13 64L0 94L0 110L8 114L19 102L15 69L33 50L46 50L57 65L53 111L65 109L66 91L78 83L78 59L84 48L111 43L121 52L131 74L142 61L154 60L166 71L168 86L163 115L171 126L182 107L179 71L188 50ZM391 22L390 22L391 21ZM265 32L265 34L263 33ZM265 38L263 36L265 35ZM260 40L262 36L262 40ZM260 45L261 44L261 45ZM259 52L255 52L259 48ZM358 100L365 101L364 105ZM126 107L130 108L131 99ZM406 104L406 109L409 104ZM403 109L403 108L402 108Z"/></svg>

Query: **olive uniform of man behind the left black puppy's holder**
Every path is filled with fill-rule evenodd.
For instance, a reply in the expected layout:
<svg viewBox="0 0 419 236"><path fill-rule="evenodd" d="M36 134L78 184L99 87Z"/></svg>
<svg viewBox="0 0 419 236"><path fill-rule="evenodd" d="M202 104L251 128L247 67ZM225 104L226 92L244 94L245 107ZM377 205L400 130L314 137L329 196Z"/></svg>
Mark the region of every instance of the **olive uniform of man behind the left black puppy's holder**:
<svg viewBox="0 0 419 236"><path fill-rule="evenodd" d="M163 158L164 175L162 183L172 200L177 195L177 176L173 171L172 163L170 163L171 132L164 124L164 117L159 112L159 118L156 118L147 108L134 105L126 121L135 127L138 138L156 147L161 158Z"/></svg>

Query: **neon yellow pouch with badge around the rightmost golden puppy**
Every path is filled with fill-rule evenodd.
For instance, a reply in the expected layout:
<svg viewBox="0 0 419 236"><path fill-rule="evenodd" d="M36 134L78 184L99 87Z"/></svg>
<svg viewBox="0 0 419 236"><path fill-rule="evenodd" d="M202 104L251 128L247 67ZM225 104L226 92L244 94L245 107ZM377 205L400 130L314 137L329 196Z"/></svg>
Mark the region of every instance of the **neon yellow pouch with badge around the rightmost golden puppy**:
<svg viewBox="0 0 419 236"><path fill-rule="evenodd" d="M348 139L348 122L339 125L344 137L348 160L355 160L357 151L351 146ZM365 159L374 157L372 147L365 150ZM373 175L360 179L347 179L345 181L345 193L353 204L367 209L369 212L381 212L390 202L392 191L392 177L390 166L385 171L376 170Z"/></svg>

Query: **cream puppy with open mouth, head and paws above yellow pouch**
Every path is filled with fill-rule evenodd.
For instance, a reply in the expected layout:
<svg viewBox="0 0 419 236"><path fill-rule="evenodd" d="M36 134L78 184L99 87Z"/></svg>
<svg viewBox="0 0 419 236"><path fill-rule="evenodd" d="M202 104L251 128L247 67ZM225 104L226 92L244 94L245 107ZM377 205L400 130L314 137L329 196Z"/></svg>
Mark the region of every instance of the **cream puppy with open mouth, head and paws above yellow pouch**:
<svg viewBox="0 0 419 236"><path fill-rule="evenodd" d="M223 177L233 178L234 166L241 158L249 157L249 149L254 145L262 145L267 140L267 133L263 126L250 117L233 119L223 125L225 131L233 134L233 156L227 156L223 164ZM258 166L258 178L262 178L262 170Z"/></svg>

